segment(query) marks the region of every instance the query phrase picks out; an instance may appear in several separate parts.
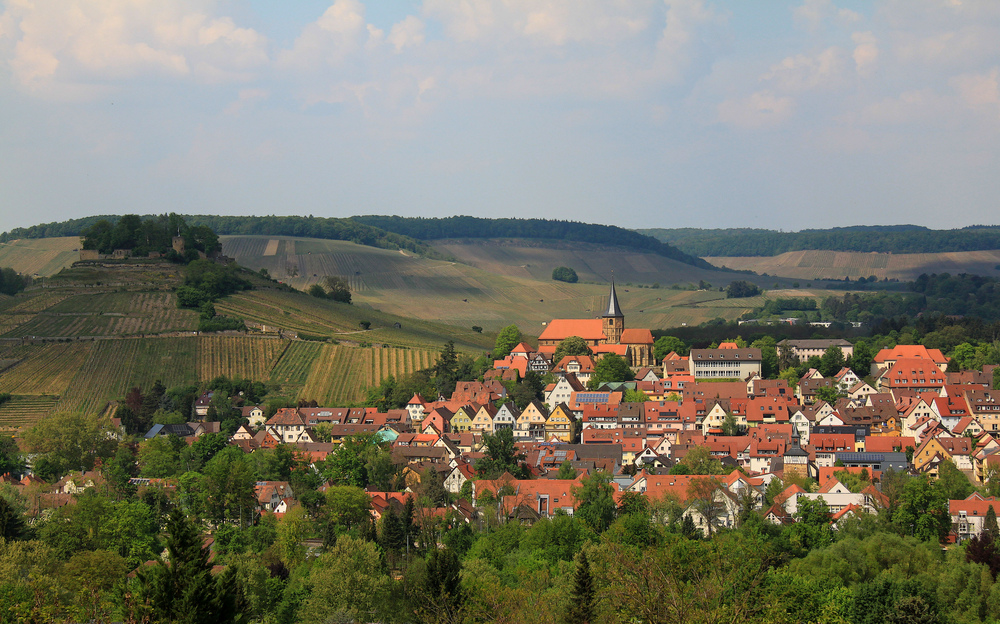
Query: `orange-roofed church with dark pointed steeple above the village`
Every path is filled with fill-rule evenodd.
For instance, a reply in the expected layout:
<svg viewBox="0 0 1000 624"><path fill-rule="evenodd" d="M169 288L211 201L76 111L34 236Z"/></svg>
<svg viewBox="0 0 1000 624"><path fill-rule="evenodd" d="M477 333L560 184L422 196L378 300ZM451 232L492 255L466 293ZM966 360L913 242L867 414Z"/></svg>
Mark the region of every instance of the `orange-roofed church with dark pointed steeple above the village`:
<svg viewBox="0 0 1000 624"><path fill-rule="evenodd" d="M553 319L538 337L538 350L551 356L559 343L570 336L583 338L595 356L616 353L633 367L655 365L653 333L648 329L625 329L625 315L618 305L614 282L608 296L608 309L600 318Z"/></svg>

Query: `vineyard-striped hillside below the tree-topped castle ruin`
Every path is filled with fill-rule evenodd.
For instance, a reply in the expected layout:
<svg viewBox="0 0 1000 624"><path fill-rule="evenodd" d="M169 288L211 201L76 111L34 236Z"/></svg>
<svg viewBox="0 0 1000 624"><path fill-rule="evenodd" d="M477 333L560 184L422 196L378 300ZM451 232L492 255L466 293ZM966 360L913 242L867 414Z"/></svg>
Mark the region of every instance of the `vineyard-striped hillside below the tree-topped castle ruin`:
<svg viewBox="0 0 1000 624"><path fill-rule="evenodd" d="M266 324L268 333L198 335L197 312L178 309L172 292L181 270L158 263L77 266L0 298L0 393L13 395L0 406L0 427L30 424L52 410L99 412L156 379L175 386L248 377L275 384L292 400L344 404L361 400L387 375L429 366L449 339L479 353L495 338L316 299L259 278L257 289L216 307ZM279 327L339 344L282 339Z"/></svg>

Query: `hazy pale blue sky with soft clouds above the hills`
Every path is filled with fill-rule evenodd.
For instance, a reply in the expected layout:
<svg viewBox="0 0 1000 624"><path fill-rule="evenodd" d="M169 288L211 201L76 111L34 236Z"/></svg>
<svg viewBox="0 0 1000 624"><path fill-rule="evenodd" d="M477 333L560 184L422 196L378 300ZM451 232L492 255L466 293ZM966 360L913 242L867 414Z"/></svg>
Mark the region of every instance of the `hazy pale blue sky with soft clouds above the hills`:
<svg viewBox="0 0 1000 624"><path fill-rule="evenodd" d="M997 0L2 0L0 231L1000 223Z"/></svg>

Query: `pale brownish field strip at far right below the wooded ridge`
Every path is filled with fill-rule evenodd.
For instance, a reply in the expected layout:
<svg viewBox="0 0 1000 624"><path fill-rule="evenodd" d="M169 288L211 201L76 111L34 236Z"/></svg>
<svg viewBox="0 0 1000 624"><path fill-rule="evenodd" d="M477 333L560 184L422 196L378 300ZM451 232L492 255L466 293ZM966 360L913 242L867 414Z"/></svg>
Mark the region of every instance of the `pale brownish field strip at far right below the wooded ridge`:
<svg viewBox="0 0 1000 624"><path fill-rule="evenodd" d="M975 273L1000 276L1000 250L933 254L847 251L790 251L779 256L705 258L716 266L784 275L800 280L850 277L912 280L921 273Z"/></svg>

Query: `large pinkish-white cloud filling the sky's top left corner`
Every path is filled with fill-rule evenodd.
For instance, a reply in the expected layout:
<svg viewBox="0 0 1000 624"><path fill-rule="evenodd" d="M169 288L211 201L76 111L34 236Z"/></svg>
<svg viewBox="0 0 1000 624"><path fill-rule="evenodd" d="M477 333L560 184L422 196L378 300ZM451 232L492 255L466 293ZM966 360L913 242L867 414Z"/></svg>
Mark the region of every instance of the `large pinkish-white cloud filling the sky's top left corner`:
<svg viewBox="0 0 1000 624"><path fill-rule="evenodd" d="M208 3L155 0L11 2L0 37L15 81L60 95L137 77L245 80L267 62L267 39Z"/></svg>

